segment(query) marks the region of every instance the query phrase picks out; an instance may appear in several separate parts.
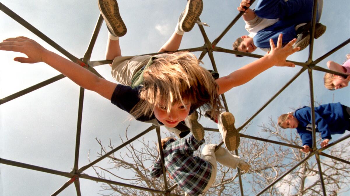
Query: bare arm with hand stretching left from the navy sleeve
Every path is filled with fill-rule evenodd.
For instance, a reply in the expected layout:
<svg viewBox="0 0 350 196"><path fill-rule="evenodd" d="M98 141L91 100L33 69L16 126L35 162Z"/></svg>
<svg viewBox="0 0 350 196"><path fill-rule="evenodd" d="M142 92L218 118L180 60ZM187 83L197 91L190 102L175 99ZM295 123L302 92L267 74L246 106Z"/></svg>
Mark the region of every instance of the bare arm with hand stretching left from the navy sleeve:
<svg viewBox="0 0 350 196"><path fill-rule="evenodd" d="M3 40L0 50L21 52L28 56L16 57L15 61L21 63L44 62L67 76L70 80L84 89L92 90L101 96L111 99L117 84L96 76L89 70L69 61L58 54L46 50L40 44L27 37L15 37Z"/></svg>

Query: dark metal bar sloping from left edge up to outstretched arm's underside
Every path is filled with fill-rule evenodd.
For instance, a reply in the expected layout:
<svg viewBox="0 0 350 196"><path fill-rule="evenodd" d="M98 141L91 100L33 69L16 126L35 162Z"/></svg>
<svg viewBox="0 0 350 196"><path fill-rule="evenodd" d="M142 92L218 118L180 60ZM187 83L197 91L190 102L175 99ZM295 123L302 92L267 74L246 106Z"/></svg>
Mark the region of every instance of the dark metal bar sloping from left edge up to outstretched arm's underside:
<svg viewBox="0 0 350 196"><path fill-rule="evenodd" d="M48 80L45 80L45 81L43 81L43 82L40 82L40 83L35 84L35 85L33 85L33 86L30 86L30 87L28 87L28 88L26 88L26 89L23 89L23 90L21 90L21 91L18 91L18 92L16 92L16 93L13 93L12 95L9 95L9 96L7 96L7 97L4 97L4 98L0 99L0 105L1 105L1 104L4 104L4 103L6 103L6 102L8 102L8 101L10 101L10 100L16 99L16 98L21 97L21 96L23 96L23 95L26 95L26 94L28 94L28 93L30 93L30 92L32 92L32 91L35 91L35 90L37 90L37 89L40 89L41 87L44 87L44 86L46 86L46 85L48 85L48 84L51 84L51 83L56 82L56 81L58 81L58 80L61 80L61 79L64 78L64 77L65 77L65 76L64 76L63 74L59 74L59 75L57 75L57 76L55 76L55 77L52 77L52 78L50 78L50 79L48 79Z"/></svg>

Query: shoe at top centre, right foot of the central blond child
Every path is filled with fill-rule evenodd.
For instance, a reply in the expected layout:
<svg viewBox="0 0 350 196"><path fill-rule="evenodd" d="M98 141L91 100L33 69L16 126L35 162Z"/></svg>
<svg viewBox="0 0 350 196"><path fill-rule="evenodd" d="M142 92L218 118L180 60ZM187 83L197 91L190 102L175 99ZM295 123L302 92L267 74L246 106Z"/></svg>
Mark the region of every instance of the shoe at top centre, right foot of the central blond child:
<svg viewBox="0 0 350 196"><path fill-rule="evenodd" d="M193 29L203 10L202 0L189 0L179 18L179 30L188 32Z"/></svg>

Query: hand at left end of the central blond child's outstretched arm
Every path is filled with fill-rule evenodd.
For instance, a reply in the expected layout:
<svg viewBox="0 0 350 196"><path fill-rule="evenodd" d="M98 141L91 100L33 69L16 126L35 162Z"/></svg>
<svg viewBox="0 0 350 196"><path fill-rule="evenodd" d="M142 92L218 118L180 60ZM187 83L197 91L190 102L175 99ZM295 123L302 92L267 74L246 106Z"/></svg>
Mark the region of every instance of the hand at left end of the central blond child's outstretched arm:
<svg viewBox="0 0 350 196"><path fill-rule="evenodd" d="M16 57L13 60L21 63L36 63L43 61L43 54L47 51L40 44L27 37L7 38L0 43L0 50L21 52L28 56Z"/></svg>

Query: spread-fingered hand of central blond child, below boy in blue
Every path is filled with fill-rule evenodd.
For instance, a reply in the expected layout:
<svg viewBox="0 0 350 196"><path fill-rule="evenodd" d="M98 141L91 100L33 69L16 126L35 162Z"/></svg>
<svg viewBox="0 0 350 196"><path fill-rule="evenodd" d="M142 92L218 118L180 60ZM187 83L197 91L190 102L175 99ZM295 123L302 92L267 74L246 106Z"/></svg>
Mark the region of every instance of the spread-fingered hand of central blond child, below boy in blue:
<svg viewBox="0 0 350 196"><path fill-rule="evenodd" d="M285 47L282 47L282 34L278 36L277 46L273 43L273 40L270 39L271 51L267 56L271 56L274 59L275 66L287 66L295 67L294 63L287 62L286 59L289 55L293 54L300 50L300 47L293 48L293 44L296 42L296 39L290 41Z"/></svg>

